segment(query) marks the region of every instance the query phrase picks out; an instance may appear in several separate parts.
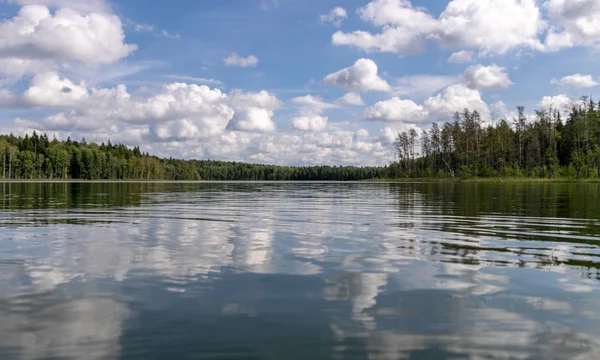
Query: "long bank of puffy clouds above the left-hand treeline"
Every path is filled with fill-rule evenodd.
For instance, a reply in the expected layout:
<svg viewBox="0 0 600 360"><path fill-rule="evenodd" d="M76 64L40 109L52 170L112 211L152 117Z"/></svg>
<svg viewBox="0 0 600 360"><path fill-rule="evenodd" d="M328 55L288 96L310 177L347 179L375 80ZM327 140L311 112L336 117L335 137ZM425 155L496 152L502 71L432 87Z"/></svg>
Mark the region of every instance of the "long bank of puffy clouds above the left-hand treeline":
<svg viewBox="0 0 600 360"><path fill-rule="evenodd" d="M215 136L226 128L275 131L272 120L282 102L267 91L229 94L205 85L172 83L153 96L132 96L124 85L87 88L56 73L34 77L20 100L28 106L66 108L44 119L43 130L108 129L113 125L150 125L149 136L159 140ZM193 125L193 126L192 126Z"/></svg>

